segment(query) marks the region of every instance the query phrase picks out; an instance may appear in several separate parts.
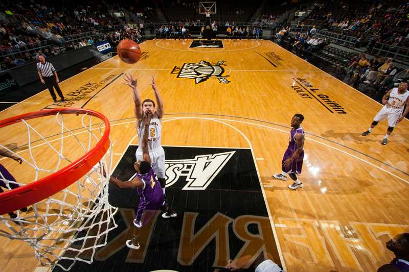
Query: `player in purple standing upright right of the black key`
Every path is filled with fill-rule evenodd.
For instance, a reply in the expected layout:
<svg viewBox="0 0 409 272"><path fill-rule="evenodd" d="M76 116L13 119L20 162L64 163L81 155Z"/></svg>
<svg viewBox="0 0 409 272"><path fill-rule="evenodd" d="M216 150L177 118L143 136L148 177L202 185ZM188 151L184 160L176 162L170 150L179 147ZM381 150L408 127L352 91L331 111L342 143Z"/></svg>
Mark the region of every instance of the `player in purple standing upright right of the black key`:
<svg viewBox="0 0 409 272"><path fill-rule="evenodd" d="M303 120L304 116L300 113L292 117L290 142L281 162L283 171L280 174L272 175L275 179L287 180L288 174L294 181L288 188L293 190L303 187L303 183L297 178L297 175L301 175L304 160L304 130L301 127Z"/></svg>

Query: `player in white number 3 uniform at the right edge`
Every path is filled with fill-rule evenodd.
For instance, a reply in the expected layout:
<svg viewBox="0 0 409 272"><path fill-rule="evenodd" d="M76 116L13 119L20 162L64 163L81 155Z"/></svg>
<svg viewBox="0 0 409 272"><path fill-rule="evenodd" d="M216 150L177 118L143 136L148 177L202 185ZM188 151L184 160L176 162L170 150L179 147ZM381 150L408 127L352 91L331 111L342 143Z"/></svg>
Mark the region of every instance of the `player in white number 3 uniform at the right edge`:
<svg viewBox="0 0 409 272"><path fill-rule="evenodd" d="M389 96L389 100L387 98ZM376 114L371 127L362 132L362 136L367 136L372 132L372 129L378 125L379 121L388 118L388 131L385 138L382 140L382 144L388 143L388 137L391 135L396 124L400 122L409 112L409 91L407 91L407 82L401 82L397 88L390 89L382 97L382 109ZM405 110L403 111L404 106Z"/></svg>

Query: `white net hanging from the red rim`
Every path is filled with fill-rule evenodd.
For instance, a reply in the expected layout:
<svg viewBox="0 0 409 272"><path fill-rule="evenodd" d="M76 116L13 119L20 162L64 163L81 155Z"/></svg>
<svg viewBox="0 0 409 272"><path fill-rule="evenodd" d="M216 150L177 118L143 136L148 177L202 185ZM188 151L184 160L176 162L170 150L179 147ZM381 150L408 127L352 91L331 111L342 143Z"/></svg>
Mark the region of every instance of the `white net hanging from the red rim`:
<svg viewBox="0 0 409 272"><path fill-rule="evenodd" d="M76 122L64 125L67 117ZM21 128L21 123L25 128ZM49 133L51 136L42 136L36 129L44 123L53 131ZM28 149L15 153L6 144L0 144L4 151L23 161L21 165L9 158L0 161L17 180L7 180L0 172L0 182L8 189L14 184L35 182L75 161L95 146L104 131L104 122L88 114L57 114L22 120L18 124L20 130L27 132ZM70 125L73 128L69 128ZM27 207L27 212L14 211L18 216L15 219L8 214L0 215L0 236L29 243L42 265L70 270L77 260L91 263L96 249L106 244L108 232L117 227L113 219L117 208L108 203L108 179L101 171L103 166L109 178L111 162L110 147L99 164L61 192ZM21 171L25 175L31 170L29 174L33 179L19 180L21 175L15 170L18 167L24 168Z"/></svg>

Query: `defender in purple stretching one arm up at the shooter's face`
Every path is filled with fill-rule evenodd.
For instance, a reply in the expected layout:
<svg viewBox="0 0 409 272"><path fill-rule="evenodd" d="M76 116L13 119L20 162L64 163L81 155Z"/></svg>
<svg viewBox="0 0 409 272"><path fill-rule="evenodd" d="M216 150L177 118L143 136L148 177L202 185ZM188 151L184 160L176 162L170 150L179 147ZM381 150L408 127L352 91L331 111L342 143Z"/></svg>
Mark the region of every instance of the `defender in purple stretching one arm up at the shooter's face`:
<svg viewBox="0 0 409 272"><path fill-rule="evenodd" d="M139 229L147 225L155 212L160 210L165 204L161 184L156 178L155 172L151 166L151 159L149 157L148 135L151 117L151 113L145 114L145 132L142 140L143 157L142 161L139 160L134 163L135 170L137 171L134 178L125 182L114 177L109 178L109 182L118 186L119 188L137 188L140 201L138 207L135 209L135 219L133 219L133 225L135 226L133 239L126 241L128 248L135 250L138 250L140 247L138 242Z"/></svg>

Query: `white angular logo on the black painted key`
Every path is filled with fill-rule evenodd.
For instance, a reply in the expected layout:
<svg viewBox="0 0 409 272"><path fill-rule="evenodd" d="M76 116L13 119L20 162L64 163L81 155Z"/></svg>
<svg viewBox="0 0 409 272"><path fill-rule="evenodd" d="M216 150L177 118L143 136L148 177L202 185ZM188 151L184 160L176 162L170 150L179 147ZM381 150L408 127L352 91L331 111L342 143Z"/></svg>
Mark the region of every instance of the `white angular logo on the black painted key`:
<svg viewBox="0 0 409 272"><path fill-rule="evenodd" d="M182 190L206 190L235 151L199 155L194 159L166 160L166 187L172 186L179 178L186 177L187 184Z"/></svg>

